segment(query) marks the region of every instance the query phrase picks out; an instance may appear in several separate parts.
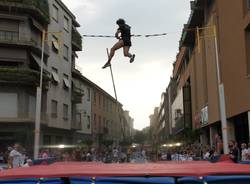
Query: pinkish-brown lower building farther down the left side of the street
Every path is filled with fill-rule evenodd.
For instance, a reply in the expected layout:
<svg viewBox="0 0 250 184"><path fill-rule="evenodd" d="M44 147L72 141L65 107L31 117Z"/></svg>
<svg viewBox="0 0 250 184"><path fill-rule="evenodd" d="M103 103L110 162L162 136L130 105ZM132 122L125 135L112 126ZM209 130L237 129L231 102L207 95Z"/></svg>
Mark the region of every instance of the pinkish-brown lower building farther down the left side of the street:
<svg viewBox="0 0 250 184"><path fill-rule="evenodd" d="M118 145L124 136L122 104L96 84L92 86L92 133L96 146ZM105 144L105 143L104 143Z"/></svg>

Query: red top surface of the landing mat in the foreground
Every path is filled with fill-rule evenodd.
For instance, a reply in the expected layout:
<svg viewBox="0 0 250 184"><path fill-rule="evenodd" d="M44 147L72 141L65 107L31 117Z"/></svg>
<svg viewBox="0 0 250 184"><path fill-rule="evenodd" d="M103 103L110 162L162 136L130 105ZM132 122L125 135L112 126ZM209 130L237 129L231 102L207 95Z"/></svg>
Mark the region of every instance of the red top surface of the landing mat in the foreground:
<svg viewBox="0 0 250 184"><path fill-rule="evenodd" d="M146 164L103 164L83 162L59 162L0 171L0 179L55 178L55 177L108 177L108 176L211 176L244 175L250 173L250 165L229 162L209 163L161 162Z"/></svg>

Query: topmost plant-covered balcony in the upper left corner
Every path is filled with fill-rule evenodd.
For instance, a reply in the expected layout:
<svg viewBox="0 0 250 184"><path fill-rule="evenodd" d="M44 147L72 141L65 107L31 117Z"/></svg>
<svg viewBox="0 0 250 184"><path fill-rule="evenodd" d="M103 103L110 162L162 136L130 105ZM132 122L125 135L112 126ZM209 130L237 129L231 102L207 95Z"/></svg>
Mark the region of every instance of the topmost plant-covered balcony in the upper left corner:
<svg viewBox="0 0 250 184"><path fill-rule="evenodd" d="M28 13L46 24L50 20L47 0L0 0L0 10Z"/></svg>

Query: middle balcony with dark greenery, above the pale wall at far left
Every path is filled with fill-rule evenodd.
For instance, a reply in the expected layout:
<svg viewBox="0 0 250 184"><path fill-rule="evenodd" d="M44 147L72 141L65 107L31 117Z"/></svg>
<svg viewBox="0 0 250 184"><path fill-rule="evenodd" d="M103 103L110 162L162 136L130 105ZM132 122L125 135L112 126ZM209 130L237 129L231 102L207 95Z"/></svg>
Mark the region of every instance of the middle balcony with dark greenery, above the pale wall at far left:
<svg viewBox="0 0 250 184"><path fill-rule="evenodd" d="M47 74L43 76L44 87L48 86L50 78ZM39 86L40 72L31 69L3 68L0 67L0 83L18 84L30 87Z"/></svg>

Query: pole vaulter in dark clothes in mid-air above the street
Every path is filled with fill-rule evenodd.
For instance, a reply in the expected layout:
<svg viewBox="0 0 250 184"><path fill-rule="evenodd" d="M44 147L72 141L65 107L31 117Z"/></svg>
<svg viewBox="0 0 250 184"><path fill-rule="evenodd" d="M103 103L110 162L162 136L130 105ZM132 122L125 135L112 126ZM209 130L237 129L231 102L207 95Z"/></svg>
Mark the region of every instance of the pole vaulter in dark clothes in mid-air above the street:
<svg viewBox="0 0 250 184"><path fill-rule="evenodd" d="M102 67L103 69L111 66L111 59L113 58L115 51L123 47L123 53L125 57L130 58L130 63L132 63L135 59L135 54L130 54L129 49L131 47L131 33L130 26L126 24L125 20L118 19L116 24L119 26L115 33L115 37L119 39L119 41L111 48L109 53L108 62Z"/></svg>

